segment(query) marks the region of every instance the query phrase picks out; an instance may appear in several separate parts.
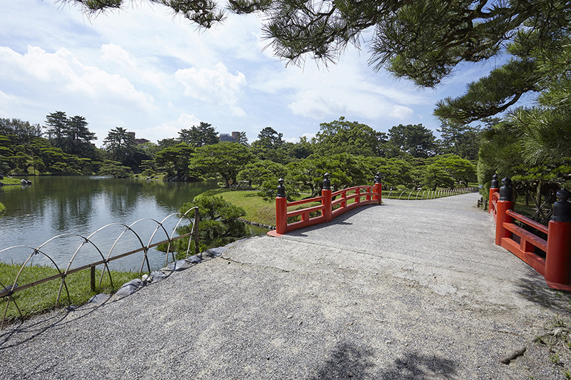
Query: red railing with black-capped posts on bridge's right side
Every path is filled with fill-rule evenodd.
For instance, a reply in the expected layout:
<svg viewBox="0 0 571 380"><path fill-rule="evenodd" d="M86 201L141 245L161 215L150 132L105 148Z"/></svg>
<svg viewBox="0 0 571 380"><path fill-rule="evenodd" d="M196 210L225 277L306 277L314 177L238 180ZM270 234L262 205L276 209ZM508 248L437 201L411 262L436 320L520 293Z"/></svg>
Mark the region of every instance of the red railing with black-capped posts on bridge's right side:
<svg viewBox="0 0 571 380"><path fill-rule="evenodd" d="M494 176L495 177L495 176ZM557 192L557 202L549 226L530 220L513 211L512 181L497 180L490 187L490 213L495 222L495 244L512 252L527 265L545 277L547 285L554 289L571 291L571 202L570 192L563 188ZM532 227L547 239L520 227Z"/></svg>

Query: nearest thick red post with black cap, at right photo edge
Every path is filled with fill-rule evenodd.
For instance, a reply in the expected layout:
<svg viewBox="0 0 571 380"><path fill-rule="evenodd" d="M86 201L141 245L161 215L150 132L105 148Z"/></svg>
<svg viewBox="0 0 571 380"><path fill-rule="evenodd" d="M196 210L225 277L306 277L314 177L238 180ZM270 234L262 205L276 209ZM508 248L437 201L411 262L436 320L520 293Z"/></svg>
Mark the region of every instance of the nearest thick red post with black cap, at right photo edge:
<svg viewBox="0 0 571 380"><path fill-rule="evenodd" d="M547 230L545 281L571 283L571 193L565 188L557 192L553 216Z"/></svg>

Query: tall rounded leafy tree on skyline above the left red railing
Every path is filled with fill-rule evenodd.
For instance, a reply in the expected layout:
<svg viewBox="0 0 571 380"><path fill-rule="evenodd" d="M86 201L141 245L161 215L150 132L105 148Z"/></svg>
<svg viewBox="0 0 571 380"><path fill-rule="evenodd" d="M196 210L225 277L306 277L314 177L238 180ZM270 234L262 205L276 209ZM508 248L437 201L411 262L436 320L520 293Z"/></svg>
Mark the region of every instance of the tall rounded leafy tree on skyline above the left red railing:
<svg viewBox="0 0 571 380"><path fill-rule="evenodd" d="M377 132L368 125L345 120L343 116L331 123L321 123L312 142L316 155L374 156L378 151Z"/></svg>

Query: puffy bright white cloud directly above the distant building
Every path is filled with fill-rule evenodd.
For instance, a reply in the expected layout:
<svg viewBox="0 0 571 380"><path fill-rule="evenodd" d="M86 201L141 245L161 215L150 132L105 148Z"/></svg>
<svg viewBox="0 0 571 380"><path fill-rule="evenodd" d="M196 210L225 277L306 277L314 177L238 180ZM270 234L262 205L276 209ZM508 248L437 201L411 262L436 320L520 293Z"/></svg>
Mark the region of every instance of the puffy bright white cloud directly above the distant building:
<svg viewBox="0 0 571 380"><path fill-rule="evenodd" d="M246 113L238 106L238 96L246 86L246 76L241 72L236 75L228 72L222 62L216 63L213 69L185 68L175 73L176 79L184 86L184 95L200 101L208 101L222 108L227 107L236 116Z"/></svg>

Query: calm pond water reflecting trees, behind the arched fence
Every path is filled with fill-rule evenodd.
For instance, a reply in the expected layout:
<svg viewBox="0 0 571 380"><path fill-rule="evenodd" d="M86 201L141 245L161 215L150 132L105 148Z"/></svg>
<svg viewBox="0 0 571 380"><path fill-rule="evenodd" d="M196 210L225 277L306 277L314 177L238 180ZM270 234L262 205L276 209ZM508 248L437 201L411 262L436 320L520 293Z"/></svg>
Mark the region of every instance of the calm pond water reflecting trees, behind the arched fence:
<svg viewBox="0 0 571 380"><path fill-rule="evenodd" d="M142 218L160 222L184 202L206 190L216 188L216 183L166 183L162 181L119 180L106 177L36 177L30 178L31 186L4 186L0 188L0 202L6 206L6 213L0 219L0 250L14 245L37 248L51 237L60 237L41 249L49 254L56 265L66 267L71 256L85 240L76 235L88 236L98 228L110 223L131 223ZM148 243L156 230L153 220L142 220L133 226L136 232L126 232L113 255L134 250ZM178 217L165 222L166 231L171 234ZM96 233L93 237L96 247L90 244L81 247L72 267L106 257L113 242L125 230L123 225L113 225ZM166 238L161 229L153 242ZM31 250L17 249L0 253L4 262L24 262ZM46 257L34 255L34 264L51 264ZM153 268L164 264L163 252L149 252ZM142 253L113 262L115 269L139 269ZM151 269L153 269L151 268Z"/></svg>

